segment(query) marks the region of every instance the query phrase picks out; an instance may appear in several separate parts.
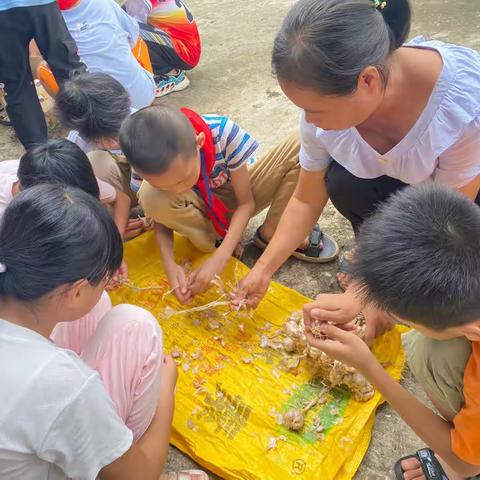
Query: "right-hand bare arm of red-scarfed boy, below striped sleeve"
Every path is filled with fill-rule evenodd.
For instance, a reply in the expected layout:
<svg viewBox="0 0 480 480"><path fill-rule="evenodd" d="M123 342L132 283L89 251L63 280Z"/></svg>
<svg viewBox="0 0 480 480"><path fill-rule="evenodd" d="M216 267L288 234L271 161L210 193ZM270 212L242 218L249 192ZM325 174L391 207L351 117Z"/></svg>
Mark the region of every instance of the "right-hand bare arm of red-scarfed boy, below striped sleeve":
<svg viewBox="0 0 480 480"><path fill-rule="evenodd" d="M228 260L242 238L242 234L245 231L250 217L255 211L255 200L250 186L247 165L243 164L240 168L232 171L231 178L237 199L237 208L232 216L228 232L222 244L208 260L189 275L189 286L192 295L207 290L215 275L220 275L223 272Z"/></svg>

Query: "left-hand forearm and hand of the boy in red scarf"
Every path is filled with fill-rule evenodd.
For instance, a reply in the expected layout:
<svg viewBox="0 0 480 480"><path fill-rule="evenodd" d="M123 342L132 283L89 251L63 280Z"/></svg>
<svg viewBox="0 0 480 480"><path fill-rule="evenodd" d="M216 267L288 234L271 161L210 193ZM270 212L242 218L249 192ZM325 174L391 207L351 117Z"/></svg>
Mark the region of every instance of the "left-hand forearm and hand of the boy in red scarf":
<svg viewBox="0 0 480 480"><path fill-rule="evenodd" d="M192 299L192 294L187 285L185 270L175 262L175 256L173 254L173 230L156 222L154 228L170 288L175 289L175 296L180 303L188 303Z"/></svg>

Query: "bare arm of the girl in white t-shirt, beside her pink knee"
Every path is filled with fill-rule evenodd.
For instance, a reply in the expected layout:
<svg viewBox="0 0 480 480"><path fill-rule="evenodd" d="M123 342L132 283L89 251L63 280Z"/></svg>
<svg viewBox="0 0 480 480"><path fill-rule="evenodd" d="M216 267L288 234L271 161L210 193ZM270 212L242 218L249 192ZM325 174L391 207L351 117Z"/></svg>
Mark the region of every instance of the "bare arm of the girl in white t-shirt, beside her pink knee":
<svg viewBox="0 0 480 480"><path fill-rule="evenodd" d="M102 480L158 480L167 461L170 428L175 404L177 367L164 356L160 398L152 423L140 440L110 465L102 468Z"/></svg>

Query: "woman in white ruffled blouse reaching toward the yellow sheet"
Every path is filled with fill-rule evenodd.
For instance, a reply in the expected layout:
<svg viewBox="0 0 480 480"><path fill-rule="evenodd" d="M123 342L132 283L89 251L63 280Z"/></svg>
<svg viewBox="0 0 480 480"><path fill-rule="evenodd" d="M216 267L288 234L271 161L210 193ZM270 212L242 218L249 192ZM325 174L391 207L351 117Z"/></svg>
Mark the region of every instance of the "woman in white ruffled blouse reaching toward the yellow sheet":
<svg viewBox="0 0 480 480"><path fill-rule="evenodd" d="M255 307L327 200L357 231L406 185L435 181L480 203L480 58L417 38L408 0L301 0L275 39L280 87L303 110L302 170L267 249L240 282Z"/></svg>

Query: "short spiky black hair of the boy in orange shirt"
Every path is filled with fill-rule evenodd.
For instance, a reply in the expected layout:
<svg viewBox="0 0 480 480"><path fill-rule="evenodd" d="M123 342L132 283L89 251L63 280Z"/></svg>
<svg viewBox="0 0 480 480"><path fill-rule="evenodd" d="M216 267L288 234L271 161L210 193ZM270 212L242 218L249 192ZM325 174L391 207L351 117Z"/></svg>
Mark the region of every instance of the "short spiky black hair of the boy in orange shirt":
<svg viewBox="0 0 480 480"><path fill-rule="evenodd" d="M392 195L361 227L353 277L368 302L434 330L480 319L480 208L438 184Z"/></svg>

